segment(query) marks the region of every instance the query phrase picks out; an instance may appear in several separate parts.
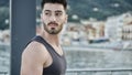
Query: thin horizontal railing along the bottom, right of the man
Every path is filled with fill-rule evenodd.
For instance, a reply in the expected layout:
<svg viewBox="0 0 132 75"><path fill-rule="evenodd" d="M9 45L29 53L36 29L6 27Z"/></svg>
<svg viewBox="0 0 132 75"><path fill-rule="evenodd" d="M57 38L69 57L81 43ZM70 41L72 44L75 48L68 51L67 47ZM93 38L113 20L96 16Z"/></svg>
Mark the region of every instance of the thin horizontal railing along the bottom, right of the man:
<svg viewBox="0 0 132 75"><path fill-rule="evenodd" d="M66 75L132 75L132 68L73 68Z"/></svg>

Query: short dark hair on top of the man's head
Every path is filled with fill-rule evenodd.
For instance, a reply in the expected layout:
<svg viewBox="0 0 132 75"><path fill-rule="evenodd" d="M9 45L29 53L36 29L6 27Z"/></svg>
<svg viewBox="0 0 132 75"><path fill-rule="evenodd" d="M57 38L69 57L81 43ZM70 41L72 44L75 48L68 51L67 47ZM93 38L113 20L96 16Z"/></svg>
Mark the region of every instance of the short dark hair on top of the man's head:
<svg viewBox="0 0 132 75"><path fill-rule="evenodd" d="M64 9L66 10L67 8L67 2L66 0L42 0L41 2L41 8L43 9L45 3L61 3L64 6Z"/></svg>

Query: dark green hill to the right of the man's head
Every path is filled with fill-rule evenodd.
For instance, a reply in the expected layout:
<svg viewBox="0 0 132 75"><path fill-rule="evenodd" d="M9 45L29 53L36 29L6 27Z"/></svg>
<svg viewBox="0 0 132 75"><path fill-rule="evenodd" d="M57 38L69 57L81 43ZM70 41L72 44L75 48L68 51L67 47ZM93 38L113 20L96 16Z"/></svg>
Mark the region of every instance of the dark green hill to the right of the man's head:
<svg viewBox="0 0 132 75"><path fill-rule="evenodd" d="M40 6L41 0L36 0ZM132 11L132 0L67 0L69 21L96 18L106 20L109 15L118 15ZM73 15L78 17L74 20Z"/></svg>

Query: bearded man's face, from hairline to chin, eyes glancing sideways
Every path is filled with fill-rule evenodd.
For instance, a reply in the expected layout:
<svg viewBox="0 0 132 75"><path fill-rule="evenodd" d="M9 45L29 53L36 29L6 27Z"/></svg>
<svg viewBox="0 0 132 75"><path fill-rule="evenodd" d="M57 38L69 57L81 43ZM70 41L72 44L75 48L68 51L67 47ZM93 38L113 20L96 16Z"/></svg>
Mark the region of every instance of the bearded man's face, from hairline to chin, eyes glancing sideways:
<svg viewBox="0 0 132 75"><path fill-rule="evenodd" d="M67 21L65 9L59 3L45 3L41 18L44 30L50 34L58 34Z"/></svg>

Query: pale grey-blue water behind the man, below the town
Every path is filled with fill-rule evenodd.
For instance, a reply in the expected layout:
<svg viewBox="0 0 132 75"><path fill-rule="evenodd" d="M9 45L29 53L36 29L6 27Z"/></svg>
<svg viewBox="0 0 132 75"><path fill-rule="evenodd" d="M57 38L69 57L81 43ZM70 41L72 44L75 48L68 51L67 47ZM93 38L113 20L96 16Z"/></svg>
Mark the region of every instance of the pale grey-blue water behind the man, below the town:
<svg viewBox="0 0 132 75"><path fill-rule="evenodd" d="M99 49L94 45L63 46L63 50L67 58L66 75L131 75L125 71L132 67L131 50ZM118 72L114 72L116 68ZM0 46L0 72L10 75L10 46L6 44Z"/></svg>

